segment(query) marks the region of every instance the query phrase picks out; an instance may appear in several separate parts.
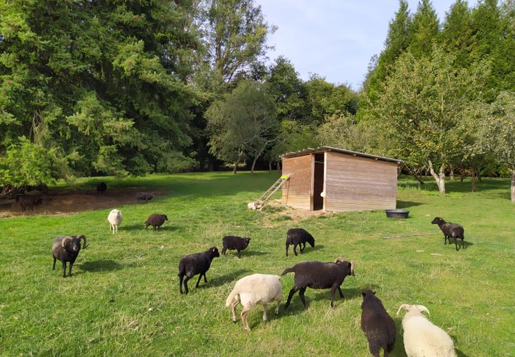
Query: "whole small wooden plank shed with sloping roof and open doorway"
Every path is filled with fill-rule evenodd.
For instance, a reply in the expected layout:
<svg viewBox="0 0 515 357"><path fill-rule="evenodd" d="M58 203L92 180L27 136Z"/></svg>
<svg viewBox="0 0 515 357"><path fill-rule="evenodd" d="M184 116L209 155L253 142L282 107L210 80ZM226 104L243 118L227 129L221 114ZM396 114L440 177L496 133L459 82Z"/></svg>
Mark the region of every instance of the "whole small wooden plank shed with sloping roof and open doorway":
<svg viewBox="0 0 515 357"><path fill-rule="evenodd" d="M324 211L395 209L401 160L330 146L282 155L282 203Z"/></svg>

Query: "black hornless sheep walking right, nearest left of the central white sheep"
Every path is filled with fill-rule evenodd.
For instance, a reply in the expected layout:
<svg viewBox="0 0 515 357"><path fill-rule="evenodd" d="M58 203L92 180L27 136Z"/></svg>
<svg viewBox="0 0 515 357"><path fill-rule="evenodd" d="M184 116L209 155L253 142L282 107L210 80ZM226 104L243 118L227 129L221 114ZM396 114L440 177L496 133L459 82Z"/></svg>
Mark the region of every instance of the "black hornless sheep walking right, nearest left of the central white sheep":
<svg viewBox="0 0 515 357"><path fill-rule="evenodd" d="M184 279L184 289L185 293L189 291L187 288L187 281L190 280L194 275L198 275L198 281L196 282L196 288L198 288L198 284L201 282L201 277L204 276L204 282L207 283L207 279L205 277L205 273L209 270L209 266L211 266L211 261L215 257L220 257L220 253L218 253L218 248L216 246L211 246L211 248L207 249L207 251L203 253L194 253L190 255L186 255L179 261L179 292L183 293L183 277L186 275L186 279Z"/></svg>

